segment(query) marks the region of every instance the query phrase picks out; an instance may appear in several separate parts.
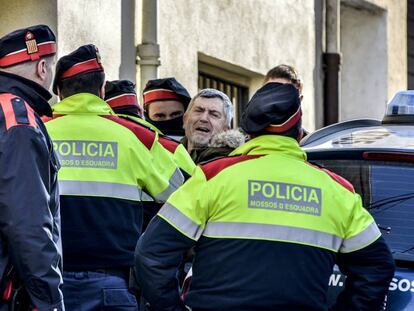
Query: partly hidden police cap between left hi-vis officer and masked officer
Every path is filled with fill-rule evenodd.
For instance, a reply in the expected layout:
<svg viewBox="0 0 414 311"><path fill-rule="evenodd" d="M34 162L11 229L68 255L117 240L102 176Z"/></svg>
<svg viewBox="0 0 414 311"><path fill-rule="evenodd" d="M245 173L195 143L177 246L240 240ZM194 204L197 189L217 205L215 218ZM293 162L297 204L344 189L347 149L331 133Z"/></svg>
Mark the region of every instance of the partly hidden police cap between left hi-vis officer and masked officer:
<svg viewBox="0 0 414 311"><path fill-rule="evenodd" d="M106 81L105 101L112 108L139 106L135 84L129 80Z"/></svg>

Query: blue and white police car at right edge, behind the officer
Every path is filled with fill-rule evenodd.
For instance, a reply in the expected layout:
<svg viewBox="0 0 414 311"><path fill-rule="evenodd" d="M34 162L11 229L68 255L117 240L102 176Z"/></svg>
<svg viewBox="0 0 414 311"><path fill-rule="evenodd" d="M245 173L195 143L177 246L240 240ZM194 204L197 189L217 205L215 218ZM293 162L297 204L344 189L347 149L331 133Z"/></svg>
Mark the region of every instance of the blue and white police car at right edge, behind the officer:
<svg viewBox="0 0 414 311"><path fill-rule="evenodd" d="M398 92L383 120L334 124L301 142L308 161L348 179L375 218L397 269L385 310L414 310L414 91ZM345 276L334 271L329 300Z"/></svg>

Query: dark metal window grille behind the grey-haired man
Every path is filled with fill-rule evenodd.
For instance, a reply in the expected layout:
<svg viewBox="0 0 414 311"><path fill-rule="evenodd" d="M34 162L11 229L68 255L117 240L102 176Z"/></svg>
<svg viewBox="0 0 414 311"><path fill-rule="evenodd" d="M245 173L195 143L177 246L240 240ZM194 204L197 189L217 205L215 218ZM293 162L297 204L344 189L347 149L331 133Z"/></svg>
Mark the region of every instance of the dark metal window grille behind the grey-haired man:
<svg viewBox="0 0 414 311"><path fill-rule="evenodd" d="M232 121L232 127L235 128L240 122L242 113L249 100L249 89L245 86L229 82L210 74L199 72L198 73L198 89L213 88L225 93L234 105L234 118Z"/></svg>

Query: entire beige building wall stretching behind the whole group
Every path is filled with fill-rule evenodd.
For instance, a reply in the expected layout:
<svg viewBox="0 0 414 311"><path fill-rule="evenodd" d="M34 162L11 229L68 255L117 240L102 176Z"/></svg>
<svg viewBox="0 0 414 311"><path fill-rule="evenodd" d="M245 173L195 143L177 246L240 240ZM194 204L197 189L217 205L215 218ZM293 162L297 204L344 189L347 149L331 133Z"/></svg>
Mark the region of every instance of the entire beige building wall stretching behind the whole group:
<svg viewBox="0 0 414 311"><path fill-rule="evenodd" d="M135 2L134 43L137 45L141 43L142 0ZM0 35L32 24L48 24L58 35L58 56L82 44L94 43L100 49L107 78L117 79L122 59L122 3L119 0L0 0ZM362 10L354 12L355 17L349 11L344 12L348 16L345 41L349 42L342 42L343 54L348 56L343 59L342 82L346 87L342 95L344 102L352 106L344 108L342 114L345 119L379 117L379 109L371 113L361 103L371 98L375 103L372 101L370 109L379 107L395 91L406 88L406 1L342 0L341 3L356 8L355 11ZM251 96L268 69L280 63L291 64L298 69L305 84L304 124L312 130L318 85L314 72L319 70L315 68L319 55L315 55L314 5L310 0L158 0L161 49L158 76L175 76L194 95L199 61L207 62L243 76ZM365 23L364 14L371 17L370 27ZM372 19L370 14L377 16ZM359 51L358 40L364 46ZM370 41L376 47L372 51L367 44ZM358 67L366 65L364 59L369 60L370 71L358 75ZM357 65L347 71L345 66L349 60L357 60ZM375 66L375 62L379 65ZM135 68L132 59L130 63ZM369 86L368 92L360 89L355 94L355 87L364 85ZM352 100L355 96L357 101Z"/></svg>

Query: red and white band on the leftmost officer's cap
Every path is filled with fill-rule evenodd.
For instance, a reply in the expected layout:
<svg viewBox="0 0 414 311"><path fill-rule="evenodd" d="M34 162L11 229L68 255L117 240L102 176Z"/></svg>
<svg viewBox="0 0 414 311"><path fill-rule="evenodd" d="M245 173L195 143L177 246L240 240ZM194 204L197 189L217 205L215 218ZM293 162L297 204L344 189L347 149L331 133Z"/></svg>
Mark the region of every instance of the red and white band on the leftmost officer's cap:
<svg viewBox="0 0 414 311"><path fill-rule="evenodd" d="M56 53L56 42L48 41L42 42L37 44L38 51L36 53L29 54L27 52L27 48L21 49L19 51L15 51L9 53L2 58L0 58L0 67L8 67L12 65L16 65L19 63L23 63L26 61L33 61L38 60L40 57L45 55L51 55Z"/></svg>

